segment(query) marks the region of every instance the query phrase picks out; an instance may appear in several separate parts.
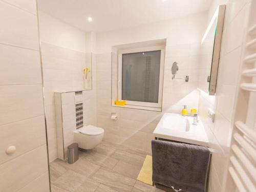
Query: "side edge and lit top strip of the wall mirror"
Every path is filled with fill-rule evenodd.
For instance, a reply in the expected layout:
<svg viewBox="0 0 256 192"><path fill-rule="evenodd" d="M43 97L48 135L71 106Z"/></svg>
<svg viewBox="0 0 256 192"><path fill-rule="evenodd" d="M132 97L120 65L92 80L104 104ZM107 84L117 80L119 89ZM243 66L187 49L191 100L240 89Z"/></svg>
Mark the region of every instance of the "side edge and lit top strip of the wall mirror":
<svg viewBox="0 0 256 192"><path fill-rule="evenodd" d="M214 40L214 51L212 53L212 60L211 60L209 95L215 95L216 93L225 9L226 9L226 5L220 5L217 7L214 13L214 16L212 16L210 23L201 41L201 44L203 44L203 41L206 38L208 32L210 31L211 26L214 24L215 19L217 19L216 33L215 33L215 40Z"/></svg>

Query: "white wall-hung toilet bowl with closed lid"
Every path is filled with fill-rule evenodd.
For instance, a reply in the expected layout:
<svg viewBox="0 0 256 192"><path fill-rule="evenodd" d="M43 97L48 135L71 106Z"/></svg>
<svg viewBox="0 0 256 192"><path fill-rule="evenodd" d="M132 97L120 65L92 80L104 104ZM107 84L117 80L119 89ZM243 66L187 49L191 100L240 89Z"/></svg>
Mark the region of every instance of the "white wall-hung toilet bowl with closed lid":
<svg viewBox="0 0 256 192"><path fill-rule="evenodd" d="M84 150L91 150L97 146L104 135L104 130L100 127L88 125L83 126L74 131L75 142L78 143L79 148Z"/></svg>

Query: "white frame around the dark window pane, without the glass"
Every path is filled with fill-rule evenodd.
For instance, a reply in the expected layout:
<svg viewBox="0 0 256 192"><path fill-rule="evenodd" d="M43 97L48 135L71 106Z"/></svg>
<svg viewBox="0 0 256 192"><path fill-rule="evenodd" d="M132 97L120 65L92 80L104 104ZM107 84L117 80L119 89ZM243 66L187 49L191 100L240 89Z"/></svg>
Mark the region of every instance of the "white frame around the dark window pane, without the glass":
<svg viewBox="0 0 256 192"><path fill-rule="evenodd" d="M151 108L162 108L165 46L151 46L151 47L143 47L143 48L118 50L118 83L117 83L117 86L118 86L118 92L117 92L118 100L122 100L122 54L139 53L139 52L147 52L147 51L161 51L158 102L153 103L153 102L125 100L126 105L146 106L146 107L151 107Z"/></svg>

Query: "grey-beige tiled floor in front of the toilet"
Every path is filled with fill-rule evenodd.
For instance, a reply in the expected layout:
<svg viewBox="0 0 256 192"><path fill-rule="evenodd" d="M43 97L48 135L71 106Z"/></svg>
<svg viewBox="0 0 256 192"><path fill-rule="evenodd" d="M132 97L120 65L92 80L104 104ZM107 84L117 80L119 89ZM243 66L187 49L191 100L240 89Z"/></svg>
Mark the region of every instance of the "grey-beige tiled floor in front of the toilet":
<svg viewBox="0 0 256 192"><path fill-rule="evenodd" d="M172 191L137 181L146 152L102 141L93 150L79 151L74 164L50 163L52 192Z"/></svg>

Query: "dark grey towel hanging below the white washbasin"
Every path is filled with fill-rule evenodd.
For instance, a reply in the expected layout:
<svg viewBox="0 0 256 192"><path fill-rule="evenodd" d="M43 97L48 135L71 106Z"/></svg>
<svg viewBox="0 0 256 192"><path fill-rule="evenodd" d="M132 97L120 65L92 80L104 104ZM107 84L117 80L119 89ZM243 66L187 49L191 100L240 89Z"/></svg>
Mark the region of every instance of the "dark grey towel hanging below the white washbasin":
<svg viewBox="0 0 256 192"><path fill-rule="evenodd" d="M208 147L152 140L155 183L190 192L205 192L210 160Z"/></svg>

